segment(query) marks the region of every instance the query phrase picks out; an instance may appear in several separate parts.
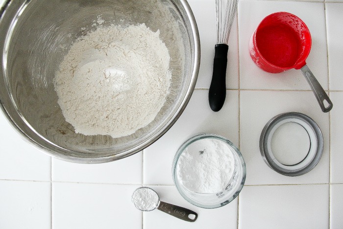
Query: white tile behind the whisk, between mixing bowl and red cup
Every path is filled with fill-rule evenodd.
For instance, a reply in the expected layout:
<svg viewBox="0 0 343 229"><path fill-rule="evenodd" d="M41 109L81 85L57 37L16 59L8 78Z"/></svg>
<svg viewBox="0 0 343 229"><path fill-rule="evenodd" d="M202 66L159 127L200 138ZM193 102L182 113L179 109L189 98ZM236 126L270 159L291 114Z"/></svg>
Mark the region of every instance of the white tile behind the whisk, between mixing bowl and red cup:
<svg viewBox="0 0 343 229"><path fill-rule="evenodd" d="M216 34L216 4L215 0L189 0L200 36L201 59L196 88L209 88L212 79L213 58ZM223 0L222 8L224 8ZM233 22L229 36L229 52L226 71L226 88L238 89L238 31L237 15Z"/></svg>

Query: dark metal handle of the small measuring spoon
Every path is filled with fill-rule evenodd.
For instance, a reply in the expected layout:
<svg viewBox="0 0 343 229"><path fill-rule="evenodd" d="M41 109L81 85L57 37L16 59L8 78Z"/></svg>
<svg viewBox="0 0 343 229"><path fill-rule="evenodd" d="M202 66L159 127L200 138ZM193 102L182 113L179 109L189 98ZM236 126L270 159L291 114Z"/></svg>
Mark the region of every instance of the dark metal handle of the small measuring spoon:
<svg viewBox="0 0 343 229"><path fill-rule="evenodd" d="M184 207L180 207L180 206L176 206L176 205L172 205L172 204L168 204L166 202L162 202L160 201L159 206L157 207L157 209L166 212L167 214L170 214L176 218L188 221L188 222L194 222L196 221L197 218L197 214L196 212L184 208ZM194 215L192 217L192 215ZM191 218L190 218L191 217Z"/></svg>

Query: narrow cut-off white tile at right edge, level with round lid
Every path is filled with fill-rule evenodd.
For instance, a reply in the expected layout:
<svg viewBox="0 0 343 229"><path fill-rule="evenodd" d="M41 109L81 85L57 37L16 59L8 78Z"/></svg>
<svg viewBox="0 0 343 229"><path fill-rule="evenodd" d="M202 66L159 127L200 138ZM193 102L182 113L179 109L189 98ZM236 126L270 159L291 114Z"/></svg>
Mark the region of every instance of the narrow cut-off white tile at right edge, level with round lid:
<svg viewBox="0 0 343 229"><path fill-rule="evenodd" d="M331 183L343 183L343 92L330 92L334 107L331 120Z"/></svg>

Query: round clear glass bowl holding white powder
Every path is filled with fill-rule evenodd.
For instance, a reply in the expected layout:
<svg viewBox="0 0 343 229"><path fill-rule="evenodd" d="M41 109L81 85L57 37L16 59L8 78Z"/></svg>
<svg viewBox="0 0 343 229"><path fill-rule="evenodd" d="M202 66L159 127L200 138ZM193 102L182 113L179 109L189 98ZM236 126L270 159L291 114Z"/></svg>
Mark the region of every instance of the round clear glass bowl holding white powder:
<svg viewBox="0 0 343 229"><path fill-rule="evenodd" d="M185 149L193 144L194 142L201 140L201 139L217 139L221 140L222 142L226 143L229 146L231 153L233 154L235 169L230 181L227 183L226 187L217 192L217 193L197 193L191 191L184 187L179 181L177 176L177 163L185 151ZM245 162L241 152L237 149L236 146L232 144L231 141L226 139L225 137L221 137L218 135L213 134L198 134L186 140L180 148L177 150L173 163L172 163L172 178L175 183L175 186L181 196L186 199L189 203L203 207L203 208L216 208L227 205L231 201L233 201L240 191L243 188L245 183Z"/></svg>

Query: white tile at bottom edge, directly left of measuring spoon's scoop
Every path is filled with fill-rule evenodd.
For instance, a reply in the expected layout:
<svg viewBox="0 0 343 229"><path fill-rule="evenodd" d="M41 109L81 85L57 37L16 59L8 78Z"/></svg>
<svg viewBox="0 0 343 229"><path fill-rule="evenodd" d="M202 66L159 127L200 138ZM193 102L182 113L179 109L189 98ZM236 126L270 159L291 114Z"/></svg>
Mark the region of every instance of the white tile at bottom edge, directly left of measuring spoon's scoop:
<svg viewBox="0 0 343 229"><path fill-rule="evenodd" d="M52 229L139 229L137 185L52 183Z"/></svg>

